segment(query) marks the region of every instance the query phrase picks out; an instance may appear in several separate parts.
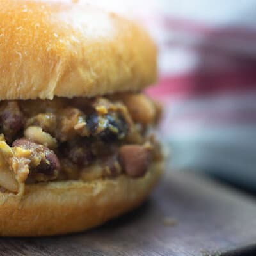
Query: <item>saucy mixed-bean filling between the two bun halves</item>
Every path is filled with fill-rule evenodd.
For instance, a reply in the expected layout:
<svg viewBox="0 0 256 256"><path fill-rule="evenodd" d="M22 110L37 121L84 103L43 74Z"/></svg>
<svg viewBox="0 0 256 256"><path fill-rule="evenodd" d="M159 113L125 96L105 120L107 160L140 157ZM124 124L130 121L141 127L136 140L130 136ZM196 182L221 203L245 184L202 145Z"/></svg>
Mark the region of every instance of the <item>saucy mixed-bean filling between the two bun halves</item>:
<svg viewBox="0 0 256 256"><path fill-rule="evenodd" d="M151 161L161 158L150 134L160 112L142 93L3 101L1 154L6 159L4 147L11 148L7 161L26 184L121 173L141 177Z"/></svg>

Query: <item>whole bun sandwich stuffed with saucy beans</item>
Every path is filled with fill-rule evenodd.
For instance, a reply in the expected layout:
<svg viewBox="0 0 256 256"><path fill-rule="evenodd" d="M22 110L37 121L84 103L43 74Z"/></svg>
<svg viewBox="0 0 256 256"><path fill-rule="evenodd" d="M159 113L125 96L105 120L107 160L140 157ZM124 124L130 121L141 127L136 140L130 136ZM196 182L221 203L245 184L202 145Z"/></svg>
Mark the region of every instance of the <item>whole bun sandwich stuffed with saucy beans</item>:
<svg viewBox="0 0 256 256"><path fill-rule="evenodd" d="M161 175L156 46L92 6L0 1L0 236L96 227Z"/></svg>

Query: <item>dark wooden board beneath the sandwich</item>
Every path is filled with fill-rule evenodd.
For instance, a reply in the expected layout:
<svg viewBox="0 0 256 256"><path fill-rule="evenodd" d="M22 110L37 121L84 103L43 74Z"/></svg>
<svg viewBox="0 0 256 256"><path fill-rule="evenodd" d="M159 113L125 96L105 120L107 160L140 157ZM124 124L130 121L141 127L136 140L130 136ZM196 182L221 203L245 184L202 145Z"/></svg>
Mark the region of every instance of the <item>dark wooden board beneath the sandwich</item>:
<svg viewBox="0 0 256 256"><path fill-rule="evenodd" d="M256 200L195 173L170 172L145 204L104 227L2 238L0 255L256 255Z"/></svg>

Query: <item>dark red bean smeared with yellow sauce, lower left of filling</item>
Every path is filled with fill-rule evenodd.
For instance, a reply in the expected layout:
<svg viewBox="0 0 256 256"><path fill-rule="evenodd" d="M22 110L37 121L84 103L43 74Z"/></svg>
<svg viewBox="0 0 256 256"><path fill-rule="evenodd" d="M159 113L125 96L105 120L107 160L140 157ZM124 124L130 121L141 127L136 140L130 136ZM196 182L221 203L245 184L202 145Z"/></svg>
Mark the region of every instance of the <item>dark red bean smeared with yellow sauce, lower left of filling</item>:
<svg viewBox="0 0 256 256"><path fill-rule="evenodd" d="M29 175L33 179L36 181L56 179L60 162L52 150L26 138L15 140L12 147L21 147L31 151Z"/></svg>

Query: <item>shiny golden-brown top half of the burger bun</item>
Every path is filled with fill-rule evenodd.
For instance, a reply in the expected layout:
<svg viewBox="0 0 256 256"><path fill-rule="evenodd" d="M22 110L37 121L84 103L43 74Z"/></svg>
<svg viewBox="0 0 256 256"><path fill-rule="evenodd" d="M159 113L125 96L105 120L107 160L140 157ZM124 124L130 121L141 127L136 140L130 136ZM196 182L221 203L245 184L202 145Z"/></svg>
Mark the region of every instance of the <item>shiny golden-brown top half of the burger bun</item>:
<svg viewBox="0 0 256 256"><path fill-rule="evenodd" d="M0 0L0 100L93 97L154 82L148 34L74 2Z"/></svg>

